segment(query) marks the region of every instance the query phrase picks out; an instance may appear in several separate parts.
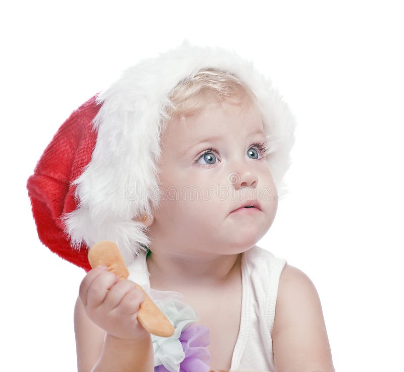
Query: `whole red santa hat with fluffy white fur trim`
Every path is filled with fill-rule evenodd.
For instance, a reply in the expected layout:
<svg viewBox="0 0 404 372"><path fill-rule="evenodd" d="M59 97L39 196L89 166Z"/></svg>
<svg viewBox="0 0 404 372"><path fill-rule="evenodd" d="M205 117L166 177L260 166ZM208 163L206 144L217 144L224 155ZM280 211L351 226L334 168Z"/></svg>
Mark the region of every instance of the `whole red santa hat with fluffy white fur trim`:
<svg viewBox="0 0 404 372"><path fill-rule="evenodd" d="M59 128L27 182L40 240L62 258L90 270L87 250L112 240L130 264L150 241L134 217L158 207L157 162L170 92L200 69L236 75L255 93L278 195L286 194L295 119L282 97L234 51L190 45L144 59L106 91L90 98Z"/></svg>

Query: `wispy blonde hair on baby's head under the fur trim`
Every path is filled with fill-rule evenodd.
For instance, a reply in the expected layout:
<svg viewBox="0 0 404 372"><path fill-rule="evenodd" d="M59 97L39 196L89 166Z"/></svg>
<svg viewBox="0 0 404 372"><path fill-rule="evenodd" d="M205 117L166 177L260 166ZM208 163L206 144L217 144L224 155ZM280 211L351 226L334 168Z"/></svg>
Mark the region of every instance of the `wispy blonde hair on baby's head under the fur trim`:
<svg viewBox="0 0 404 372"><path fill-rule="evenodd" d="M211 103L254 102L256 95L240 79L227 71L207 67L181 80L169 94L167 118L200 111Z"/></svg>

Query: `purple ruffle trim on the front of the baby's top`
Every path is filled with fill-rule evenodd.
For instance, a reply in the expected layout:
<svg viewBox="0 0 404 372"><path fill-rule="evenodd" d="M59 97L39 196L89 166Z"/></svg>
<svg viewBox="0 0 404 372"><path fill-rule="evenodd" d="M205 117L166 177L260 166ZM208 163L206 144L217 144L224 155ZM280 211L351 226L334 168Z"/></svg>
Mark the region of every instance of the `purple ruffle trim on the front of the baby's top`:
<svg viewBox="0 0 404 372"><path fill-rule="evenodd" d="M212 360L206 347L211 342L209 328L192 323L181 333L179 340L185 353L180 372L209 372ZM162 364L155 367L155 372L170 371Z"/></svg>

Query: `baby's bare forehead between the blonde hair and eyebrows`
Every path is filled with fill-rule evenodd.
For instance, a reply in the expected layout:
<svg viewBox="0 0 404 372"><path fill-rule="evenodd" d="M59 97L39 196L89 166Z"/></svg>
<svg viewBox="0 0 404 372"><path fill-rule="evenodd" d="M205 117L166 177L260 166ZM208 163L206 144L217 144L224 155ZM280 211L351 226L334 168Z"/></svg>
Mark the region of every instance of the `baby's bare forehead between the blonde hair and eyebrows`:
<svg viewBox="0 0 404 372"><path fill-rule="evenodd" d="M165 147L182 152L184 148L210 137L246 137L252 132L264 133L258 104L254 101L223 101L184 117L175 115L164 131L162 142Z"/></svg>

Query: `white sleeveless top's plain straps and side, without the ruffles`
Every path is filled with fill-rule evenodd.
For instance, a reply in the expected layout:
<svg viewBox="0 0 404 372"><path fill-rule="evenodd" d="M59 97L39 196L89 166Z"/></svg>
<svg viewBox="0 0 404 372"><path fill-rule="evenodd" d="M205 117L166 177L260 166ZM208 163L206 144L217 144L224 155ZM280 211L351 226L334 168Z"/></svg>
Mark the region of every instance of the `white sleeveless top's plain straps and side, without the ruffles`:
<svg viewBox="0 0 404 372"><path fill-rule="evenodd" d="M258 245L242 254L241 321L231 370L275 370L271 332L279 277L285 264L285 259L275 257ZM150 287L145 253L128 269L130 280Z"/></svg>

